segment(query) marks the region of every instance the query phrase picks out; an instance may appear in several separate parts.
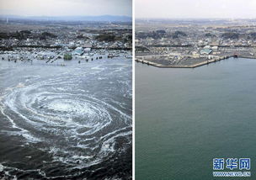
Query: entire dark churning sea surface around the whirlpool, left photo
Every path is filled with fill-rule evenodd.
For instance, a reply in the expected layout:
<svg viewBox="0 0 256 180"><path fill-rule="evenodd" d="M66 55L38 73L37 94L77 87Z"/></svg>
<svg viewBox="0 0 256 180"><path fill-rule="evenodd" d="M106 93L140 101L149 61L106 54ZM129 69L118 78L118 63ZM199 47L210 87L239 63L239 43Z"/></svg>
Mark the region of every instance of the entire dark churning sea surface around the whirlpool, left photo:
<svg viewBox="0 0 256 180"><path fill-rule="evenodd" d="M131 179L131 59L0 61L0 178Z"/></svg>

